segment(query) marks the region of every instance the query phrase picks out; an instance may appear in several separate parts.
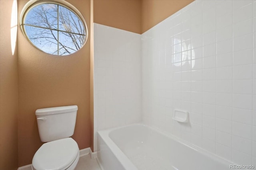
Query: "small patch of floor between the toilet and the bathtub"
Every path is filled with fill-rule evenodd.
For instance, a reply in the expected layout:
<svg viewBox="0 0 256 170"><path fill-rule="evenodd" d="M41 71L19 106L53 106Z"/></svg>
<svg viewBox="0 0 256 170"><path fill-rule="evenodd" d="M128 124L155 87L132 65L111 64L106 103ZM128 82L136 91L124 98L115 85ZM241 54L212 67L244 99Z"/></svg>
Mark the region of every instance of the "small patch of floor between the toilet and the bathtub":
<svg viewBox="0 0 256 170"><path fill-rule="evenodd" d="M90 155L81 156L75 170L101 170L96 159L91 159Z"/></svg>

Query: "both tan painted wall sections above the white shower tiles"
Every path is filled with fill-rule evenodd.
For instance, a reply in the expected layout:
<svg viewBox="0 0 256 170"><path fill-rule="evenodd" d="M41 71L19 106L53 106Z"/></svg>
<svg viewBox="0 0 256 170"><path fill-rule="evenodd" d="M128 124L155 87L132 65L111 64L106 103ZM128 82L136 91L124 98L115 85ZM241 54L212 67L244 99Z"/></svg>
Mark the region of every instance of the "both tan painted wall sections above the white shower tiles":
<svg viewBox="0 0 256 170"><path fill-rule="evenodd" d="M144 33L194 0L94 0L94 22Z"/></svg>

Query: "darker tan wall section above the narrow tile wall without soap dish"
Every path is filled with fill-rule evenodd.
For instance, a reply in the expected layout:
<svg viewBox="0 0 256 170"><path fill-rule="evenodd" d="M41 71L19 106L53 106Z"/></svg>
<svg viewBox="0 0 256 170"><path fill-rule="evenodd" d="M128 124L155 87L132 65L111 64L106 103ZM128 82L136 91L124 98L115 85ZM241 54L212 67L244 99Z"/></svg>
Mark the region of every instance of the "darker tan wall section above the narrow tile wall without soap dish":
<svg viewBox="0 0 256 170"><path fill-rule="evenodd" d="M94 0L94 22L140 33L140 0Z"/></svg>

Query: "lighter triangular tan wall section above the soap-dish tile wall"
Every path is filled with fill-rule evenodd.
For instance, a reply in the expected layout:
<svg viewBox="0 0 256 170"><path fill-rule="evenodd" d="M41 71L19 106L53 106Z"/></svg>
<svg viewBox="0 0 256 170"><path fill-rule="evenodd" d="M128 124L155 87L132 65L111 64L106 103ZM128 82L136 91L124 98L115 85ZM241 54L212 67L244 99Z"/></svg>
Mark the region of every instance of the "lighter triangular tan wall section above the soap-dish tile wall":
<svg viewBox="0 0 256 170"><path fill-rule="evenodd" d="M141 1L141 33L144 33L194 0Z"/></svg>

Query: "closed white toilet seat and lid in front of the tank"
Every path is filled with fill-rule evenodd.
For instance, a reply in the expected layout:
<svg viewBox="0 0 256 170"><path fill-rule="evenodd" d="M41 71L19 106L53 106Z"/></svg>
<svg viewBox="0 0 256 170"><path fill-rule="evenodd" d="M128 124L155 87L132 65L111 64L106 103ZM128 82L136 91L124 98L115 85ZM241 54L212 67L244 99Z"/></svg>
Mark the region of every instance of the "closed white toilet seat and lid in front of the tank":
<svg viewBox="0 0 256 170"><path fill-rule="evenodd" d="M77 163L79 148L72 138L59 139L44 143L32 160L32 168L35 170L66 170Z"/></svg>

